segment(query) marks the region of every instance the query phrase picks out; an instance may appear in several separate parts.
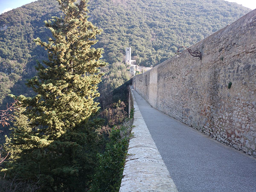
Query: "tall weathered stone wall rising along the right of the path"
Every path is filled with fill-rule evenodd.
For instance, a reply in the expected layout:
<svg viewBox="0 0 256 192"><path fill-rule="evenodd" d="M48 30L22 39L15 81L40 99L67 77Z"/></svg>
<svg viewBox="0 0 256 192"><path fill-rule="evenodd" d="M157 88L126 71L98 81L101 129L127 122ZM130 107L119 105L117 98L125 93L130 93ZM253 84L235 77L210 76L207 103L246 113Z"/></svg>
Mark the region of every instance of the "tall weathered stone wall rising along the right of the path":
<svg viewBox="0 0 256 192"><path fill-rule="evenodd" d="M154 108L256 157L256 9L190 48L202 60L184 50L135 76L134 88Z"/></svg>

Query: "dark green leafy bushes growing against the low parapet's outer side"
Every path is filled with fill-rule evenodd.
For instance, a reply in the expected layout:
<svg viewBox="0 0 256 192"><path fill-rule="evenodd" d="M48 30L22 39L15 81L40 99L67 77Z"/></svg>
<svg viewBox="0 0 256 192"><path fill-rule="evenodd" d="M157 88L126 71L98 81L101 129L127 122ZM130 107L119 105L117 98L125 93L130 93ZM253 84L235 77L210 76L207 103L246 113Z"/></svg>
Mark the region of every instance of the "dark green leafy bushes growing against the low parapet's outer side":
<svg viewBox="0 0 256 192"><path fill-rule="evenodd" d="M103 154L97 154L98 166L91 192L118 192L131 135L131 122L114 127Z"/></svg>

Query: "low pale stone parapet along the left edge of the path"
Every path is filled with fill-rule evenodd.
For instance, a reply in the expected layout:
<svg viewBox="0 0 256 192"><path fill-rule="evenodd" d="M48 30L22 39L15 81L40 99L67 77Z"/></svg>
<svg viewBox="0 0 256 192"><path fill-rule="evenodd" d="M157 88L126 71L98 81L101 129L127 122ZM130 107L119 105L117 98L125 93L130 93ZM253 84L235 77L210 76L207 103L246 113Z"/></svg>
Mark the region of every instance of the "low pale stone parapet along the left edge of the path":
<svg viewBox="0 0 256 192"><path fill-rule="evenodd" d="M119 192L177 192L135 99L133 125Z"/></svg>

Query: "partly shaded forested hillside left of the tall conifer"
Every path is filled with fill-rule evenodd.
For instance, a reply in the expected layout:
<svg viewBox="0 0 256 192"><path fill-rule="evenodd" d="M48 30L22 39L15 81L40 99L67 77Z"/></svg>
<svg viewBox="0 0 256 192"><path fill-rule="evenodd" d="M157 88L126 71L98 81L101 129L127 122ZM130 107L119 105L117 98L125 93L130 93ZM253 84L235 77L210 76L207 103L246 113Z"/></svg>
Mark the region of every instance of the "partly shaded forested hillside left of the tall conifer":
<svg viewBox="0 0 256 192"><path fill-rule="evenodd" d="M0 86L0 103L4 107L11 102L6 98L8 93L32 96L31 89L24 86L25 79L35 76L37 60L47 59L47 52L33 40L39 36L46 41L52 36L43 22L57 14L57 2L44 0L0 15L0 84L4 83Z"/></svg>

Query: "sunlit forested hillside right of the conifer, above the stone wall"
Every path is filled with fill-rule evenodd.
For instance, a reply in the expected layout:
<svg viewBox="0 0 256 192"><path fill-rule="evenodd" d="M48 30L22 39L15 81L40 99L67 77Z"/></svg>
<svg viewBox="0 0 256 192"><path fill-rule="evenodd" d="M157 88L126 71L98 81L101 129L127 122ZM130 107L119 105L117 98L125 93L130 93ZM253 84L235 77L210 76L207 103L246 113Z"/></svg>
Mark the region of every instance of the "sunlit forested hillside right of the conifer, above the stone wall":
<svg viewBox="0 0 256 192"><path fill-rule="evenodd" d="M223 0L95 0L90 9L91 21L104 29L98 46L106 61L123 61L125 47L131 47L137 64L148 67L249 11Z"/></svg>

